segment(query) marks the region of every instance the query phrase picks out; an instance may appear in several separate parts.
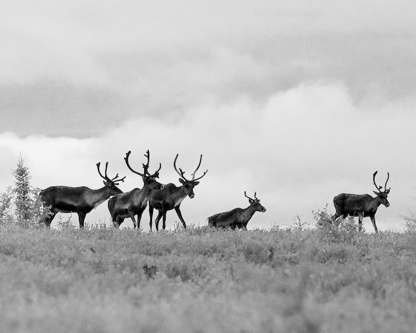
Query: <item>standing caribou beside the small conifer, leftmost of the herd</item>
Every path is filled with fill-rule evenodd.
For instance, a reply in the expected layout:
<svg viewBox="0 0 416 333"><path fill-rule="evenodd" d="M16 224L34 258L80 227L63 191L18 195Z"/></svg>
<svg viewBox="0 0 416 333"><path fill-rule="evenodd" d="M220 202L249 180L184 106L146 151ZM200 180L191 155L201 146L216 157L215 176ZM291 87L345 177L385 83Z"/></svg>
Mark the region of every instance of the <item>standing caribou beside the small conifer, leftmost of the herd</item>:
<svg viewBox="0 0 416 333"><path fill-rule="evenodd" d="M50 213L46 214L41 220L46 226L51 227L51 222L58 212L71 213L76 212L80 223L80 228L84 228L85 215L91 212L98 205L101 205L110 196L123 193L116 187L119 182L124 182L124 178L119 178L119 174L112 179L107 176L108 162L105 163L105 176L100 171L100 162L97 169L101 178L104 179L104 187L101 189L89 189L88 187L67 187L51 186L40 191L40 201L45 209Z"/></svg>

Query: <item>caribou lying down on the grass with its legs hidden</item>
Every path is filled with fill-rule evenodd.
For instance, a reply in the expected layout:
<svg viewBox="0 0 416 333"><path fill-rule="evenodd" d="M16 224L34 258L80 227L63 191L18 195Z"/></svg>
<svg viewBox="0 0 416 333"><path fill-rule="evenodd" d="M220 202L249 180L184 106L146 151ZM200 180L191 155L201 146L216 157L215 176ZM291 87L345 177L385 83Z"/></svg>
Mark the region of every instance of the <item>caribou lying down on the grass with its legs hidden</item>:
<svg viewBox="0 0 416 333"><path fill-rule="evenodd" d="M229 212L218 213L208 218L208 225L216 228L232 228L247 229L247 223L250 221L255 212L266 212L266 208L260 204L260 200L254 192L254 199L247 196L244 191L244 196L248 198L250 206L247 208L235 208Z"/></svg>

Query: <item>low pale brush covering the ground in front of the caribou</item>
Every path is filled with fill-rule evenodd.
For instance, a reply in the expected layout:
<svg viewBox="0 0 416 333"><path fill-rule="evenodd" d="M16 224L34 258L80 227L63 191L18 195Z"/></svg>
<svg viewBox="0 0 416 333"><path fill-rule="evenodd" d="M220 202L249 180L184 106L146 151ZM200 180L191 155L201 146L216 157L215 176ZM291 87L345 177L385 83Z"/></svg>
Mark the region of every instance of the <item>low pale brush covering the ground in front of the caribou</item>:
<svg viewBox="0 0 416 333"><path fill-rule="evenodd" d="M416 233L0 226L1 332L415 332Z"/></svg>

